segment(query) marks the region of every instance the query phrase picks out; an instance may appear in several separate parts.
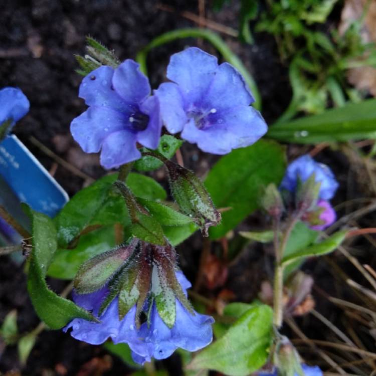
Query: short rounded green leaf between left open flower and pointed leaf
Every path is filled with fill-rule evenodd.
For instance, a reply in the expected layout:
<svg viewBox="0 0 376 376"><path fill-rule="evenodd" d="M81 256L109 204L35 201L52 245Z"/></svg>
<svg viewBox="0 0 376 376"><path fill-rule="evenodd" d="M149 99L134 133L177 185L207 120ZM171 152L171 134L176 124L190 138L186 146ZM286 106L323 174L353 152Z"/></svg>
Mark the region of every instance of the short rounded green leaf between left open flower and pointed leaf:
<svg viewBox="0 0 376 376"><path fill-rule="evenodd" d="M146 200L165 200L167 197L163 187L149 176L131 172L127 178L127 185L134 196Z"/></svg>

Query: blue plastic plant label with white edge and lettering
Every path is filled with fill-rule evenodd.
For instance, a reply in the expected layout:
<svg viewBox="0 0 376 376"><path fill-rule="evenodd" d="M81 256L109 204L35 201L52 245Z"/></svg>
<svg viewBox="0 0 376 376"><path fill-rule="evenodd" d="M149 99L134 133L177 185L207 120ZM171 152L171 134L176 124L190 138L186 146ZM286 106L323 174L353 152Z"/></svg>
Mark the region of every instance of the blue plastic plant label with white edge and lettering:
<svg viewBox="0 0 376 376"><path fill-rule="evenodd" d="M63 188L14 134L0 143L0 175L20 201L50 217L69 200Z"/></svg>

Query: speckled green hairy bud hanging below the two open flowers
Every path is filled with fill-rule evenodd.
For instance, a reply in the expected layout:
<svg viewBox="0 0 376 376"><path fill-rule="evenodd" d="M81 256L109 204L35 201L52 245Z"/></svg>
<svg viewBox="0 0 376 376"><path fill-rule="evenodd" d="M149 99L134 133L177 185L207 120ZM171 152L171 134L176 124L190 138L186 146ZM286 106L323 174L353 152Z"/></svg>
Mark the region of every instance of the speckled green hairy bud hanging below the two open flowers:
<svg viewBox="0 0 376 376"><path fill-rule="evenodd" d="M209 227L219 224L221 214L215 208L203 182L193 171L170 160L164 160L164 164L176 203L184 214L201 227L204 236L208 236Z"/></svg>

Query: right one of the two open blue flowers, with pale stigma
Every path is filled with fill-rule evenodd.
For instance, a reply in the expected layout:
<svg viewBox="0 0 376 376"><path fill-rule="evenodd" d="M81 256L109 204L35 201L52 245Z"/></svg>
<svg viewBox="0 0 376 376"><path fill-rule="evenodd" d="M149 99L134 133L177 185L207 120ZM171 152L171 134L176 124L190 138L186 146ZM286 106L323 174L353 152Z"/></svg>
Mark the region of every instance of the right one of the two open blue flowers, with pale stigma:
<svg viewBox="0 0 376 376"><path fill-rule="evenodd" d="M213 154L253 144L267 131L240 73L199 48L171 56L167 78L155 91L164 126Z"/></svg>

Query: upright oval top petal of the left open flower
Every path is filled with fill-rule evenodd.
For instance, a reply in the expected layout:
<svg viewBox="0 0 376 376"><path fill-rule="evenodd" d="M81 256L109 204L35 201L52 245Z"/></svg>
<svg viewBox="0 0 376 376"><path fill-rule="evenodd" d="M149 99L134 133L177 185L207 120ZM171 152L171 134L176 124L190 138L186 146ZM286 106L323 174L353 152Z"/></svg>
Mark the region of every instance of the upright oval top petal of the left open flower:
<svg viewBox="0 0 376 376"><path fill-rule="evenodd" d="M140 66L127 59L116 69L112 79L116 92L127 102L140 103L150 94L149 80L140 72Z"/></svg>

